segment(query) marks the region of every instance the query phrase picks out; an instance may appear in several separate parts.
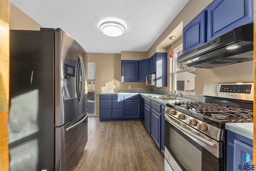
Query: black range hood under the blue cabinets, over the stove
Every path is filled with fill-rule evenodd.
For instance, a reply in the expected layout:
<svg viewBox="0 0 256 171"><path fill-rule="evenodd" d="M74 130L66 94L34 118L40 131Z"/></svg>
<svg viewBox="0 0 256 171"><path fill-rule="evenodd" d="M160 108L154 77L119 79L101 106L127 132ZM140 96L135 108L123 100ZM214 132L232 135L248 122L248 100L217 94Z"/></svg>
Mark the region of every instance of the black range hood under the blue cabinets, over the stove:
<svg viewBox="0 0 256 171"><path fill-rule="evenodd" d="M239 48L227 50L227 47ZM229 31L178 57L178 62L194 68L214 68L253 60L253 23Z"/></svg>

